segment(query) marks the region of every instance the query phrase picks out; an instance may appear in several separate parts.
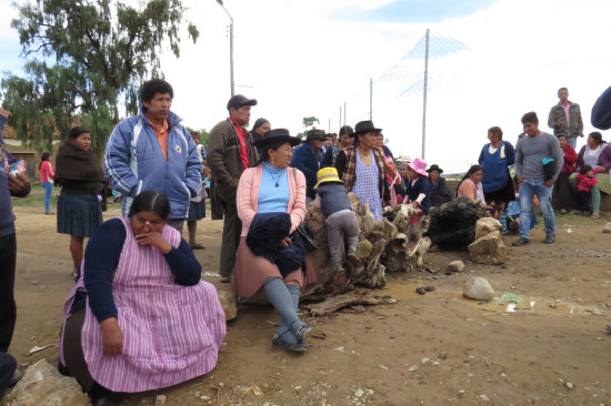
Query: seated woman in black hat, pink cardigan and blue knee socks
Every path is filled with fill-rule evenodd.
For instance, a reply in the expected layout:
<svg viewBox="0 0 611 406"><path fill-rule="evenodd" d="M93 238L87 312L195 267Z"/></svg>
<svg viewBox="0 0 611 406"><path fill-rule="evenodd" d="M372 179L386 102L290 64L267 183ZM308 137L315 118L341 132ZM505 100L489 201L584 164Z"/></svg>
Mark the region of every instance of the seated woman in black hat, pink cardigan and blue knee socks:
<svg viewBox="0 0 611 406"><path fill-rule="evenodd" d="M233 293L251 297L262 286L282 316L272 345L293 352L308 348L303 341L310 331L297 315L300 290L307 284L306 248L294 233L306 216L306 176L289 165L299 143L284 129L254 141L261 160L238 184L242 234L233 268Z"/></svg>

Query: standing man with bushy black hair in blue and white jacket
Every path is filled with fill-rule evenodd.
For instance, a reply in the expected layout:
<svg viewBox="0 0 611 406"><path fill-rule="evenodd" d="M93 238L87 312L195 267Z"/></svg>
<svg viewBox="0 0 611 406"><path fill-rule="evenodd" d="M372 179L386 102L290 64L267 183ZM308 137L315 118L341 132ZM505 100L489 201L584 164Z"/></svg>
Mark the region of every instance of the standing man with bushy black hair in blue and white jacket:
<svg viewBox="0 0 611 406"><path fill-rule="evenodd" d="M168 224L182 232L189 200L201 189L202 162L181 119L170 111L173 97L164 80L142 84L140 114L121 121L110 134L104 172L126 196L123 215L138 193L158 191L170 201Z"/></svg>

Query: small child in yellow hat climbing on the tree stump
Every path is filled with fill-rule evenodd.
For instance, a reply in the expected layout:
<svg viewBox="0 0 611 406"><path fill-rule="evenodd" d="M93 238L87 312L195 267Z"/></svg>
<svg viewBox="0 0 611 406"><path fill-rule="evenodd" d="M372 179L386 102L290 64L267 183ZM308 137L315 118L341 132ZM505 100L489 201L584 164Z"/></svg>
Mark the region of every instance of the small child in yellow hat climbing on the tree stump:
<svg viewBox="0 0 611 406"><path fill-rule="evenodd" d="M348 260L358 262L357 244L361 233L359 222L348 199L348 190L338 177L338 171L334 168L323 168L318 171L317 181L314 191L320 197L320 209L325 217L331 263L335 272L341 272L344 244L348 244Z"/></svg>

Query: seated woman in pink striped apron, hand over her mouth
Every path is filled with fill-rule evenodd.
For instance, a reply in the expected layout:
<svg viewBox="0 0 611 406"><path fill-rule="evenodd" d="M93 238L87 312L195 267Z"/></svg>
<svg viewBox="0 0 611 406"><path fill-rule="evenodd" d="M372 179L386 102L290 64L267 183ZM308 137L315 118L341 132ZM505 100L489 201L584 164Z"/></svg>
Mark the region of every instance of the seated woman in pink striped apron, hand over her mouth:
<svg viewBox="0 0 611 406"><path fill-rule="evenodd" d="M169 214L163 194L142 192L129 217L103 223L87 245L59 359L93 405L112 405L113 392L180 384L217 364L224 313L189 244L166 225Z"/></svg>

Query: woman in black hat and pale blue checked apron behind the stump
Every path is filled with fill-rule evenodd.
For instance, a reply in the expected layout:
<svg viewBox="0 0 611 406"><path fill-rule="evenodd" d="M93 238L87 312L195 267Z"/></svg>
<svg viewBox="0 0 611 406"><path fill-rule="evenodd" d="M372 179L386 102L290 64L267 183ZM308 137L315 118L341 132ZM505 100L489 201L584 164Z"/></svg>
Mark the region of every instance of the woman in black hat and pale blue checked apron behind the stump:
<svg viewBox="0 0 611 406"><path fill-rule="evenodd" d="M382 220L382 200L391 205L390 187L387 185L384 155L375 146L375 134L381 132L371 121L361 121L354 126L354 145L338 154L335 169L349 192L353 192L375 221Z"/></svg>

